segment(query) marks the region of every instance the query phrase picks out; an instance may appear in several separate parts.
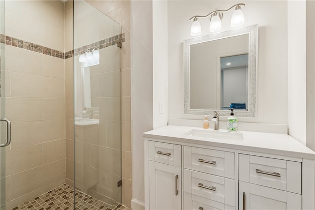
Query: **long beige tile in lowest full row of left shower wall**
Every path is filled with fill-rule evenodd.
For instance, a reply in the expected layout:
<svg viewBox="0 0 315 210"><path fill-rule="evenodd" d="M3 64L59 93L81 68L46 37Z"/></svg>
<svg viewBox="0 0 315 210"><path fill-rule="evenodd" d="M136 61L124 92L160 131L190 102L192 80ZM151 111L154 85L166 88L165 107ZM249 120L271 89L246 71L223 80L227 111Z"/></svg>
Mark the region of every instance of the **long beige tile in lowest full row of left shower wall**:
<svg viewBox="0 0 315 210"><path fill-rule="evenodd" d="M12 175L12 199L64 179L64 160Z"/></svg>

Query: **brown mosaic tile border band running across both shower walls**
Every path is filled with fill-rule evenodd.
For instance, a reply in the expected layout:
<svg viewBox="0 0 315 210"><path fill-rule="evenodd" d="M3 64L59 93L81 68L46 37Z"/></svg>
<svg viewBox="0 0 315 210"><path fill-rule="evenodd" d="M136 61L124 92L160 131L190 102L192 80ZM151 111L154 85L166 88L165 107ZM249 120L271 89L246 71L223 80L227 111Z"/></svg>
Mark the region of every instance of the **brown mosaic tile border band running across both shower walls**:
<svg viewBox="0 0 315 210"><path fill-rule="evenodd" d="M110 47L113 45L118 44L118 42L125 42L125 33L118 34L116 36L112 36L93 44L89 44L74 50L70 50L68 52L62 52L55 49L51 49L39 44L34 44L32 42L28 42L22 39L17 39L11 36L6 36L5 34L0 34L0 43L4 43L9 46L22 48L25 50L30 50L33 52L38 52L44 55L61 58L61 59L68 59L72 58L73 56L77 56L86 52L88 49L93 49L94 47L98 47L98 49L102 49L105 47Z"/></svg>

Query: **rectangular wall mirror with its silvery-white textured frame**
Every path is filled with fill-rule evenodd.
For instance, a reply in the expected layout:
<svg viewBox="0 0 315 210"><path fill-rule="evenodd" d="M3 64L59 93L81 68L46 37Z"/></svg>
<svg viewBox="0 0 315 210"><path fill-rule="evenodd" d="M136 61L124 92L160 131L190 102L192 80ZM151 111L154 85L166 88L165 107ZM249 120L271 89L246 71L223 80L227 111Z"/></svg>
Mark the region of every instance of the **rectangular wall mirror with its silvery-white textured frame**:
<svg viewBox="0 0 315 210"><path fill-rule="evenodd" d="M185 114L256 114L258 25L184 41Z"/></svg>

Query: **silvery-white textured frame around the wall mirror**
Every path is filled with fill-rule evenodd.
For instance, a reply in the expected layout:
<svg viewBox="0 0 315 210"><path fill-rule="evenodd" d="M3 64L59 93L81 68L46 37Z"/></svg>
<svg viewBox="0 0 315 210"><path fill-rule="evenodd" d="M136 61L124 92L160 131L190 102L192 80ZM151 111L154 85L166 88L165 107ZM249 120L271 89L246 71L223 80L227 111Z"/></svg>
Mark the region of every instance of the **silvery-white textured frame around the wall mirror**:
<svg viewBox="0 0 315 210"><path fill-rule="evenodd" d="M220 33L214 33L202 37L192 38L184 41L184 60L185 60L185 99L184 99L184 114L193 115L212 115L217 111L219 116L229 116L229 110L207 110L207 109L190 109L189 106L189 90L190 90L190 45L208 42L243 34L249 34L249 81L248 81L248 109L235 110L237 117L254 118L256 116L256 71L257 71L257 52L258 52L258 25L244 27L235 30L228 30ZM215 99L217 100L217 98Z"/></svg>

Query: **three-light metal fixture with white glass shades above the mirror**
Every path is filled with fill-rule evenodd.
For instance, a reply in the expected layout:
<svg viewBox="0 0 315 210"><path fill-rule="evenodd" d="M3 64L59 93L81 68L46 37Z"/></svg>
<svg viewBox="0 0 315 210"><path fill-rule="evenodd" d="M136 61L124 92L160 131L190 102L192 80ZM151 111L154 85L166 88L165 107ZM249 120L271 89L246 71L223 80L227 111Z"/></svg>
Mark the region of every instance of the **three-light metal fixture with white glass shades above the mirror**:
<svg viewBox="0 0 315 210"><path fill-rule="evenodd" d="M221 30L222 28L221 19L223 18L223 13L231 10L234 7L235 7L235 10L231 18L231 27L235 28L235 27L243 26L245 23L245 17L244 17L244 13L242 11L241 6L245 6L245 3L235 4L226 10L215 10L205 16L195 15L191 17L189 20L193 19L193 21L190 27L190 35L191 36L201 35L201 25L198 21L198 18L210 17L210 26L209 26L210 32L216 32L216 31Z"/></svg>

